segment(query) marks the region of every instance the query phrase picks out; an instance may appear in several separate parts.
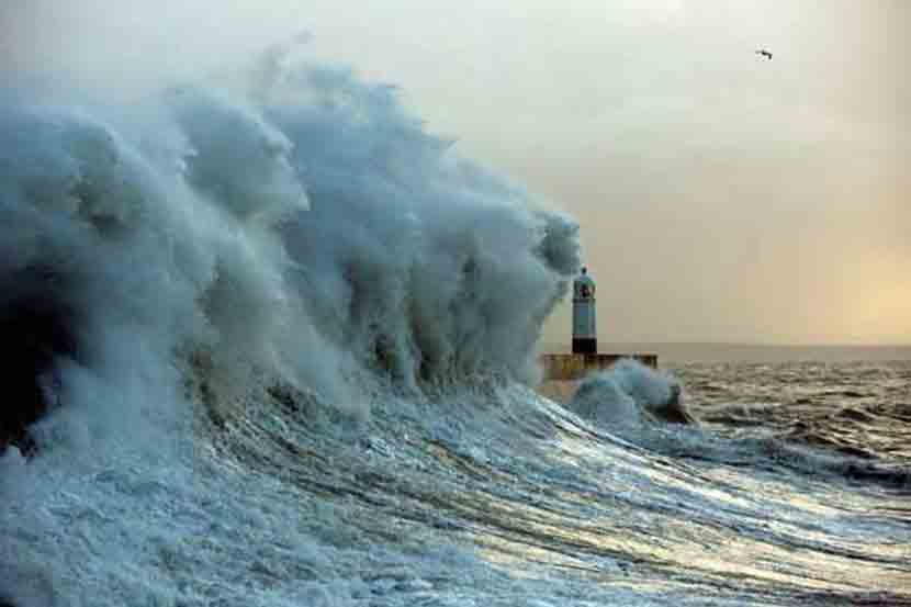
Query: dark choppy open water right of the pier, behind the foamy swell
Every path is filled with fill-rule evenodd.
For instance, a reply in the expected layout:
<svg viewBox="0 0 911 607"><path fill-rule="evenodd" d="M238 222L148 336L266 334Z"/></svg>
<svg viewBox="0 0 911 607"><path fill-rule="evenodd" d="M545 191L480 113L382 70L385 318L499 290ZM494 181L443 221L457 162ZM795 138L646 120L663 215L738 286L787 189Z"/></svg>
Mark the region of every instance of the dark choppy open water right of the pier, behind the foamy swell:
<svg viewBox="0 0 911 607"><path fill-rule="evenodd" d="M676 369L707 428L819 447L893 467L911 463L908 361L690 363Z"/></svg>

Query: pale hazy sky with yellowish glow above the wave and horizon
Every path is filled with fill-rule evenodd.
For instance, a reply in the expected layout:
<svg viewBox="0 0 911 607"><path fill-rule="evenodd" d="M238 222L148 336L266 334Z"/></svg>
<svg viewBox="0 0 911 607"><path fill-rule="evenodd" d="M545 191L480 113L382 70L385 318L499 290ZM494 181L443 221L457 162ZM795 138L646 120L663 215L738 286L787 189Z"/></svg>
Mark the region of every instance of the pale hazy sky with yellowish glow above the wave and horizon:
<svg viewBox="0 0 911 607"><path fill-rule="evenodd" d="M911 2L5 0L0 20L8 74L123 90L310 32L581 222L603 341L911 342ZM563 306L546 339L567 327Z"/></svg>

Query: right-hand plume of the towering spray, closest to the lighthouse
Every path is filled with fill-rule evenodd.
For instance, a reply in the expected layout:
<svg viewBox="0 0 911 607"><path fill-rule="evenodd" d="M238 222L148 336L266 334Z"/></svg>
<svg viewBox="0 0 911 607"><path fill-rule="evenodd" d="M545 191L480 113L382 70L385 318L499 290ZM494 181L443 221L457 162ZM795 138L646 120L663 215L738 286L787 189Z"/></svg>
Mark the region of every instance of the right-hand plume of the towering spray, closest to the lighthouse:
<svg viewBox="0 0 911 607"><path fill-rule="evenodd" d="M288 87L301 80L310 95L297 100ZM404 386L533 381L533 342L578 265L577 227L452 154L395 95L325 68L271 93L312 204L282 228L305 305L328 340Z"/></svg>

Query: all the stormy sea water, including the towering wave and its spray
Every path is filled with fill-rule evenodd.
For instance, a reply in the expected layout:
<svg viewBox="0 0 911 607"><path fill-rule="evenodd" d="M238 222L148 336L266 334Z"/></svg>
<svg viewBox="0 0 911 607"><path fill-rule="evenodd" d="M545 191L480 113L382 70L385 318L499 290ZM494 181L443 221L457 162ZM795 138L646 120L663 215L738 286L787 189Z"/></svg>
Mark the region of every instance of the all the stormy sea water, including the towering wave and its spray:
<svg viewBox="0 0 911 607"><path fill-rule="evenodd" d="M278 50L10 92L0 605L911 605L911 364L549 400L577 232Z"/></svg>

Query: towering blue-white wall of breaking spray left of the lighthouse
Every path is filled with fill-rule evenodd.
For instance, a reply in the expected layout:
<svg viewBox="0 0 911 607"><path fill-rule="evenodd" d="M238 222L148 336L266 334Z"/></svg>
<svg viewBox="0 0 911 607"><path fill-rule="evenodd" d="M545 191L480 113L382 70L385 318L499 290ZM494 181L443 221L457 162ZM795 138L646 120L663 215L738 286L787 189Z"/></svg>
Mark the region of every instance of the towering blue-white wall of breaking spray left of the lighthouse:
<svg viewBox="0 0 911 607"><path fill-rule="evenodd" d="M22 379L0 445L170 429L188 378L221 400L280 378L361 416L371 385L535 380L576 224L394 89L289 53L128 114L3 100L0 323Z"/></svg>

